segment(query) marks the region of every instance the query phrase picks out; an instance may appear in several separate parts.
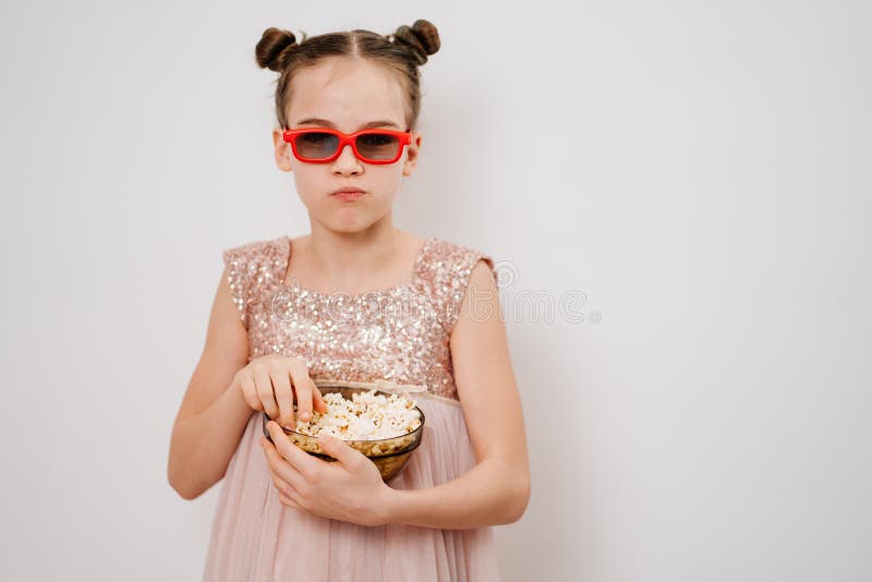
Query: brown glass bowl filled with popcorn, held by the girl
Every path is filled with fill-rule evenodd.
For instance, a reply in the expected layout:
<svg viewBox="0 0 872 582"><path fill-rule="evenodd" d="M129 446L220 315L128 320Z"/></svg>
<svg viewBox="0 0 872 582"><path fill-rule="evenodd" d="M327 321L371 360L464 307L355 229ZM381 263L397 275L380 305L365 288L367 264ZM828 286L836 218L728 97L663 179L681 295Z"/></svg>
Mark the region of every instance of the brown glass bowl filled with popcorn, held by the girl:
<svg viewBox="0 0 872 582"><path fill-rule="evenodd" d="M397 476L421 445L424 433L424 412L409 393L379 390L371 387L377 385L365 383L315 384L327 411L313 410L312 419L304 422L298 417L294 403L294 427L281 426L288 440L314 457L336 461L318 445L318 435L326 433L365 454L385 483ZM264 435L269 438L269 417L262 416Z"/></svg>

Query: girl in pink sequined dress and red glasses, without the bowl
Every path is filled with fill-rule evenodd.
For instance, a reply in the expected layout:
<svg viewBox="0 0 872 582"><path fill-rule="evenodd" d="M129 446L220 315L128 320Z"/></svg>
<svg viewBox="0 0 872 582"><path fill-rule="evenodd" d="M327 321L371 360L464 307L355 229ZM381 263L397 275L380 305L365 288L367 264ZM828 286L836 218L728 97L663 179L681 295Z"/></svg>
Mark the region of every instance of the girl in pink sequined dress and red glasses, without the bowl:
<svg viewBox="0 0 872 582"><path fill-rule="evenodd" d="M530 471L494 260L391 215L438 48L422 20L257 44L280 73L276 163L312 232L222 253L168 469L185 499L223 478L204 580L499 579L492 525L523 514ZM279 423L326 411L319 378L426 387L421 446L389 484L340 439L319 437L326 462L282 438Z"/></svg>

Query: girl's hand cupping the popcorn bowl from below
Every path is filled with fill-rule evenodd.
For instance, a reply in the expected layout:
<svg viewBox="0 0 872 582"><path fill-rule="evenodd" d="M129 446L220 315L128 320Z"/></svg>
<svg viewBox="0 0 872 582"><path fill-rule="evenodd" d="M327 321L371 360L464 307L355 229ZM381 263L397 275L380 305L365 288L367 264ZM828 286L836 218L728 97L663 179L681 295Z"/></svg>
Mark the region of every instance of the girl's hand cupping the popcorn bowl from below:
<svg viewBox="0 0 872 582"><path fill-rule="evenodd" d="M340 438L318 437L322 450L337 459L324 461L300 449L275 423L267 423L272 442L261 437L272 483L282 505L361 525L383 525L393 493L378 468ZM274 445L274 442L276 445Z"/></svg>

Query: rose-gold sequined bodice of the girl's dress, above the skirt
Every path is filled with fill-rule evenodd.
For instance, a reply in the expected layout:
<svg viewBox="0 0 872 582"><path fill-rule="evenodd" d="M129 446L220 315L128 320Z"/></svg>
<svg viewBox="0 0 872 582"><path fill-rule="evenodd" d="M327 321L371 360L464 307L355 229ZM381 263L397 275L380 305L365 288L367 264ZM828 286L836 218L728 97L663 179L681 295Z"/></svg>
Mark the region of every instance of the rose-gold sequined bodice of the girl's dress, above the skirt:
<svg viewBox="0 0 872 582"><path fill-rule="evenodd" d="M423 384L457 400L449 338L482 252L426 239L411 281L358 295L282 282L288 237L228 248L233 301L249 330L249 360L281 353L308 364L312 378Z"/></svg>

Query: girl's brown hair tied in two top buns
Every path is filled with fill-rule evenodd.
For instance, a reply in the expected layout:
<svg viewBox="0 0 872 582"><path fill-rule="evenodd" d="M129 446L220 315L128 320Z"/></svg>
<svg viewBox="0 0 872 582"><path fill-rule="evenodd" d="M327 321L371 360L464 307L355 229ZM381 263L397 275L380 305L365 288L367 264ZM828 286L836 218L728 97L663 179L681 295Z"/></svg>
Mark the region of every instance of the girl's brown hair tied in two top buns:
<svg viewBox="0 0 872 582"><path fill-rule="evenodd" d="M330 57L370 59L395 71L405 92L405 121L410 130L415 128L421 111L417 68L427 62L427 56L439 50L439 33L433 24L417 20L411 28L403 25L388 36L361 28L326 33L312 38L305 33L302 36L302 40L298 43L293 33L270 27L264 31L254 49L255 59L262 69L281 73L276 86L276 117L282 128L288 128L284 109L294 73L315 66Z"/></svg>

